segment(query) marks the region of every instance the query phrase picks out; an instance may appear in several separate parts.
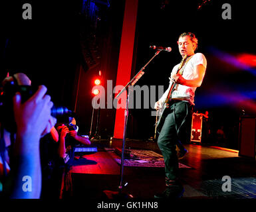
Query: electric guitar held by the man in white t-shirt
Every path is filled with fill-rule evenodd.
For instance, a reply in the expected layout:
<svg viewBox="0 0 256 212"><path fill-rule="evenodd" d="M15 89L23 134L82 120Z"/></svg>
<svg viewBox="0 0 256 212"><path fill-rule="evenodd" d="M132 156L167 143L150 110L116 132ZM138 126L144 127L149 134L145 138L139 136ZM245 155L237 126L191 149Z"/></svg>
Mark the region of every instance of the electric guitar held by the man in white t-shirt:
<svg viewBox="0 0 256 212"><path fill-rule="evenodd" d="M183 74L183 70L182 69L185 65L186 62L188 62L188 60L191 58L191 56L188 58L187 54L186 56L184 56L184 58L182 58L182 62L180 63L180 66L178 68L177 74ZM188 60L187 60L188 59ZM156 119L156 129L155 132L158 131L160 132L163 125L164 125L164 120L166 119L166 116L168 115L168 108L169 108L169 104L172 98L172 92L174 91L174 88L176 87L177 83L174 81L174 79L171 82L172 84L170 85L170 89L168 91L168 95L166 97L166 100L164 101L164 105L161 109L158 109L157 111L157 119Z"/></svg>

